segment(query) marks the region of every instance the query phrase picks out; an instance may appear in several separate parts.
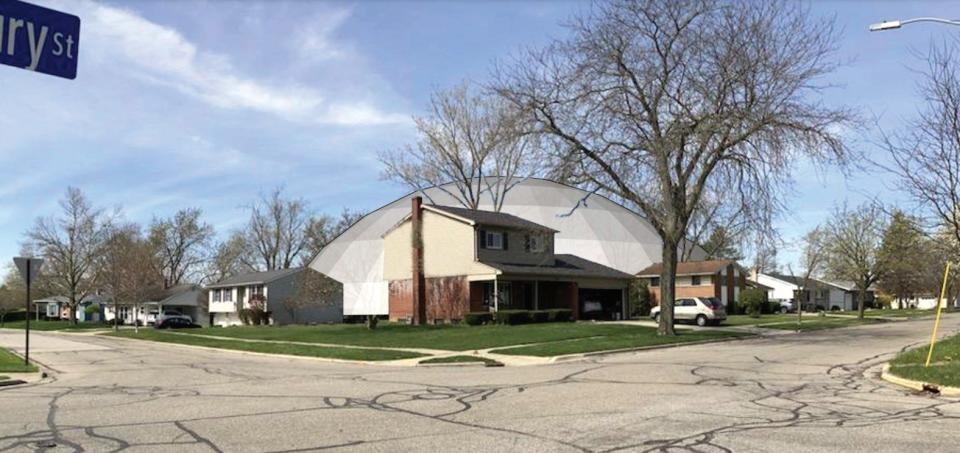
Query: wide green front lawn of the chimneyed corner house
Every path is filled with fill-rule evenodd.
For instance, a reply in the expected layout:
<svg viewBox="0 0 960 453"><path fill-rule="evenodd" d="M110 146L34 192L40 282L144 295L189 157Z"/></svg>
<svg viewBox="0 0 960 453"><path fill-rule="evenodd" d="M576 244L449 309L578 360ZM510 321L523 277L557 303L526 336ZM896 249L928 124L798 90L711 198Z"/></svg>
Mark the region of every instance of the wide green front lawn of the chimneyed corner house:
<svg viewBox="0 0 960 453"><path fill-rule="evenodd" d="M413 327L403 324L381 324L374 330L368 330L363 325L357 324L286 327L248 326L194 329L188 333L191 335L214 335L257 340L470 351L577 338L630 335L645 330L649 330L649 328L622 324L578 322L522 326L439 325Z"/></svg>

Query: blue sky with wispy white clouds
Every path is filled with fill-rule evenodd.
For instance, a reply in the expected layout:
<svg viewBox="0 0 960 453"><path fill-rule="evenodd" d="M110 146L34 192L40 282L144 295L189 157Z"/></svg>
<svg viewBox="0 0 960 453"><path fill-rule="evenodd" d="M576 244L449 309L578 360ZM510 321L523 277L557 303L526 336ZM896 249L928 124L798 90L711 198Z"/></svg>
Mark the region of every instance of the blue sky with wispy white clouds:
<svg viewBox="0 0 960 453"><path fill-rule="evenodd" d="M76 80L0 67L0 259L68 185L98 205L149 222L202 208L227 233L244 206L284 185L318 211L375 209L406 190L379 179L378 151L414 138L411 114L430 92L484 81L491 63L563 36L575 2L36 3L81 17ZM917 108L911 68L932 40L960 28L869 33L881 19L960 16L933 3L817 2L836 17L846 61L827 102L895 129ZM846 131L878 152L870 130ZM834 205L898 199L876 174L847 178L798 163L789 240ZM790 242L790 241L788 241ZM782 261L794 256L789 246Z"/></svg>

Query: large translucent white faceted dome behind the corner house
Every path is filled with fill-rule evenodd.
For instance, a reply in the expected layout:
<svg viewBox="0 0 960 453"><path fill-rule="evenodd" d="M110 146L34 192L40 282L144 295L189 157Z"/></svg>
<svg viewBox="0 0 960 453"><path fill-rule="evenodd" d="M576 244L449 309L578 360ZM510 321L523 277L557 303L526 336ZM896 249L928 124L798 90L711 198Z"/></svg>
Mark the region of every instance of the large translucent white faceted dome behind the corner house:
<svg viewBox="0 0 960 453"><path fill-rule="evenodd" d="M452 184L443 187L455 190ZM410 193L367 214L310 263L343 283L344 315L387 314L382 236L410 213L410 199L418 194L424 203L460 206L436 187ZM576 187L528 178L507 193L501 211L559 231L556 253L574 254L629 274L660 262L660 238L646 219L603 196L587 195ZM581 205L573 209L578 202ZM492 209L492 204L487 201L480 209Z"/></svg>

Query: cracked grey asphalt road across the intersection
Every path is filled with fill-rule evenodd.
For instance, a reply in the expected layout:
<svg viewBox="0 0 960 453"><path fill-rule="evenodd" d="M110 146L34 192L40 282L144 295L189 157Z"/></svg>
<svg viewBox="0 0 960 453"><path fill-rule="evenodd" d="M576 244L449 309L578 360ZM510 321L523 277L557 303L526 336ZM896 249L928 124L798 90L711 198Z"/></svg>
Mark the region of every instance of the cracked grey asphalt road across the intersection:
<svg viewBox="0 0 960 453"><path fill-rule="evenodd" d="M960 451L960 399L877 377L931 324L505 368L37 335L52 378L0 390L0 451Z"/></svg>

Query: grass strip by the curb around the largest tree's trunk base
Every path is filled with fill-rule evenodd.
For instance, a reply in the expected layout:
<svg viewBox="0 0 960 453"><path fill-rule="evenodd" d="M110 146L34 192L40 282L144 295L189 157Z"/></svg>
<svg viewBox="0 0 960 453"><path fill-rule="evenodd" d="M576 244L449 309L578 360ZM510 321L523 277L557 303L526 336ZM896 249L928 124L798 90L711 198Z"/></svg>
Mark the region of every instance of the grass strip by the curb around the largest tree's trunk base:
<svg viewBox="0 0 960 453"><path fill-rule="evenodd" d="M717 340L747 335L748 334L721 330L677 330L676 336L661 337L657 335L657 330L654 328L635 327L634 330L630 332L618 332L596 338L555 341L552 343L521 346L517 348L497 349L491 352L494 354L553 357L566 354L639 348L643 346L688 343L700 340Z"/></svg>

